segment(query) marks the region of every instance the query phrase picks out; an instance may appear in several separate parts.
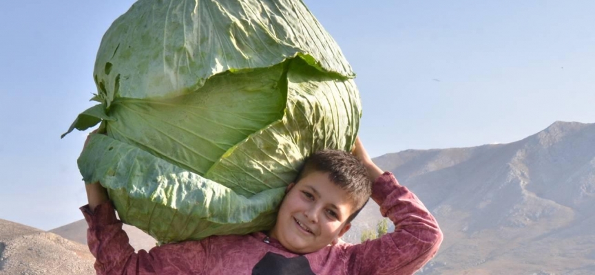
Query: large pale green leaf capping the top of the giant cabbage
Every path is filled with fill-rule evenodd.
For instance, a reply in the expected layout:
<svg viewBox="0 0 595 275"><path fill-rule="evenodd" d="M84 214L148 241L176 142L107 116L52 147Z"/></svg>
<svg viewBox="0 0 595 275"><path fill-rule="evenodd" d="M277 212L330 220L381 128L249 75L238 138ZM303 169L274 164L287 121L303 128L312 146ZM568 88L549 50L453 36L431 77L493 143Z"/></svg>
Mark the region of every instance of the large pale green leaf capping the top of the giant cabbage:
<svg viewBox="0 0 595 275"><path fill-rule="evenodd" d="M103 36L94 77L109 107L117 97L179 96L221 72L294 56L324 72L355 76L301 1L140 0Z"/></svg>

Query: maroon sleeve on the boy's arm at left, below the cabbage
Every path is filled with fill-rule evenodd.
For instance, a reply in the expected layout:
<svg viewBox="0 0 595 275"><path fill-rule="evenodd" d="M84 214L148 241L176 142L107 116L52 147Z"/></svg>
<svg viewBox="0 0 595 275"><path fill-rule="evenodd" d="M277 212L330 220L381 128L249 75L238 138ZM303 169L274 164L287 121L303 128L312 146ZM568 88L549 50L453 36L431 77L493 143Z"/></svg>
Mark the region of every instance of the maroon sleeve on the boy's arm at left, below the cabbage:
<svg viewBox="0 0 595 275"><path fill-rule="evenodd" d="M112 203L106 201L91 211L81 207L87 230L87 245L95 256L97 274L203 274L207 241L161 245L149 252L134 252Z"/></svg>

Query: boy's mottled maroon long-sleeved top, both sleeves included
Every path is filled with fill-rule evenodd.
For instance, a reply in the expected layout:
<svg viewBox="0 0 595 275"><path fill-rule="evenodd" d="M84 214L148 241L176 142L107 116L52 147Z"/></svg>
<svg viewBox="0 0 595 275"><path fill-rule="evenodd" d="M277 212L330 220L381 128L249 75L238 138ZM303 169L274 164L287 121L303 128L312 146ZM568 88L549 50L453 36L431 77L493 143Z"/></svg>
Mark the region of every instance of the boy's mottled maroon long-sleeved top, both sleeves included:
<svg viewBox="0 0 595 275"><path fill-rule="evenodd" d="M395 232L304 255L286 250L262 232L210 236L134 253L111 203L97 206L94 213L88 206L81 211L89 224L87 242L97 274L413 274L440 246L436 220L391 173L375 181L372 198L395 223Z"/></svg>

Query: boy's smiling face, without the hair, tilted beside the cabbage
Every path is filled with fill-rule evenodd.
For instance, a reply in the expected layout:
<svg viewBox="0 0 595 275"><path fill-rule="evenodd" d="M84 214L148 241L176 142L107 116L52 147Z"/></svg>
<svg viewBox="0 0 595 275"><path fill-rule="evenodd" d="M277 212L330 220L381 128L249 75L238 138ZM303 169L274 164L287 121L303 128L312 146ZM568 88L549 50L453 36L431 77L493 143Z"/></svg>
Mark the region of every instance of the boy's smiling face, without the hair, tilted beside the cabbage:
<svg viewBox="0 0 595 275"><path fill-rule="evenodd" d="M271 237L286 249L306 254L337 243L351 227L353 212L347 192L328 179L328 173L311 172L290 184Z"/></svg>

